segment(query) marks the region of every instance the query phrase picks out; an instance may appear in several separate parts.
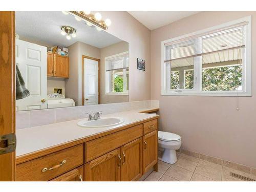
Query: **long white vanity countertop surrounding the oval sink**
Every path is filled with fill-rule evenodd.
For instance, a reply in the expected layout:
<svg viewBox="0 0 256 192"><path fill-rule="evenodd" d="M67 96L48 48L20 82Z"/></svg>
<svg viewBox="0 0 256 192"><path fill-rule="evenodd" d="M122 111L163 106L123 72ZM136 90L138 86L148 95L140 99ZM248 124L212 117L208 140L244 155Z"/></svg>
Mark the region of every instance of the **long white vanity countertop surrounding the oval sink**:
<svg viewBox="0 0 256 192"><path fill-rule="evenodd" d="M36 152L44 148L52 147L61 143L88 137L94 134L116 129L127 124L136 123L158 115L139 113L141 111L152 110L155 108L144 108L138 110L125 111L102 115L102 117L122 117L122 124L110 127L86 128L77 125L83 119L65 121L60 123L47 124L42 126L28 127L16 130L17 146L16 156Z"/></svg>

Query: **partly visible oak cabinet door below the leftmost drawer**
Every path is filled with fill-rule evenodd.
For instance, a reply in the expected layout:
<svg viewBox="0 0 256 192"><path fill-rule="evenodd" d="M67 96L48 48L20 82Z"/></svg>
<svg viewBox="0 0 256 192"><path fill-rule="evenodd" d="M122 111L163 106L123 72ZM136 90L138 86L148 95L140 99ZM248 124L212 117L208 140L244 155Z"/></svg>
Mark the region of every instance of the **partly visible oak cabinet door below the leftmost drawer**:
<svg viewBox="0 0 256 192"><path fill-rule="evenodd" d="M83 181L83 166L70 170L50 181Z"/></svg>

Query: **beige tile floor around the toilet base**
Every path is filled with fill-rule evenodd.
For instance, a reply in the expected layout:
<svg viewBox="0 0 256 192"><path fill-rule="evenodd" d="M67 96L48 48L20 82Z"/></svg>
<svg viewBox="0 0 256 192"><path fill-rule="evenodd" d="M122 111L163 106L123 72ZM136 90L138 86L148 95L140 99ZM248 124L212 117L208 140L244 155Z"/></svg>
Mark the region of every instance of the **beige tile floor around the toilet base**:
<svg viewBox="0 0 256 192"><path fill-rule="evenodd" d="M256 176L219 164L177 152L175 164L158 161L158 172L152 172L144 181L242 181L229 172L256 180Z"/></svg>

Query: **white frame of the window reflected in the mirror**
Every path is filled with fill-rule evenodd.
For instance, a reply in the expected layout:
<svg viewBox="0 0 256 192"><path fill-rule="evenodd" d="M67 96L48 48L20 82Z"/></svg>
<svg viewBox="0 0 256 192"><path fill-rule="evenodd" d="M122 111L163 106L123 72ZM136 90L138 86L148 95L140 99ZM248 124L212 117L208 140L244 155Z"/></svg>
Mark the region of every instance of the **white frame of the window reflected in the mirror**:
<svg viewBox="0 0 256 192"><path fill-rule="evenodd" d="M115 57L118 57L118 56L122 56L122 55L127 55L128 54L128 58L130 57L129 56L129 51L125 51L125 52L122 52L122 53L118 53L118 54L115 54L115 55L111 55L111 56L108 56L108 57L105 57L105 68L104 68L104 74L105 74L105 95L129 95L129 90L125 90L124 92L107 92L106 90L108 89L108 86L109 86L109 78L108 78L108 74L106 74L106 65L108 65L108 60L111 59L111 58L115 58ZM130 58L129 58L129 61L130 61ZM126 69L125 69L125 72L126 72ZM123 76L126 77L126 74L123 74ZM126 83L127 83L127 80L125 82L125 85L124 87L126 88Z"/></svg>

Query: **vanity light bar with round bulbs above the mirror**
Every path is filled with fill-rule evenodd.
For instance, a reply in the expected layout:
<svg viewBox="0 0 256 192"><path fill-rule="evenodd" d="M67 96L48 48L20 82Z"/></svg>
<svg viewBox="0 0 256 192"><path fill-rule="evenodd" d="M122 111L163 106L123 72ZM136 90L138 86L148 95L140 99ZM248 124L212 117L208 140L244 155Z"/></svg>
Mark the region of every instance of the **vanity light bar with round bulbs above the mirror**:
<svg viewBox="0 0 256 192"><path fill-rule="evenodd" d="M84 20L88 26L93 25L106 30L111 25L111 20L109 18L101 20L102 16L98 12L94 15L91 14L91 11L69 11L69 13L75 16L76 20Z"/></svg>

